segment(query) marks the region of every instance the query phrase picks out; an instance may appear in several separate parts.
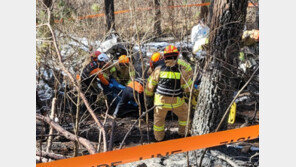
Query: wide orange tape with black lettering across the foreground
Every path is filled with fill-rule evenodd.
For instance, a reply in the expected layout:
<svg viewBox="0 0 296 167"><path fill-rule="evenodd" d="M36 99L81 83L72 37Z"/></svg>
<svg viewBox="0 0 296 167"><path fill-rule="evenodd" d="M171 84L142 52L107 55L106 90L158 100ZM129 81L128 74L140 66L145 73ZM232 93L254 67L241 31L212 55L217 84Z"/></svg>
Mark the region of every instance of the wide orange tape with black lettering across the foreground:
<svg viewBox="0 0 296 167"><path fill-rule="evenodd" d="M163 157L207 147L243 142L259 137L259 125L174 139L121 150L39 163L36 167L111 167L143 159Z"/></svg>

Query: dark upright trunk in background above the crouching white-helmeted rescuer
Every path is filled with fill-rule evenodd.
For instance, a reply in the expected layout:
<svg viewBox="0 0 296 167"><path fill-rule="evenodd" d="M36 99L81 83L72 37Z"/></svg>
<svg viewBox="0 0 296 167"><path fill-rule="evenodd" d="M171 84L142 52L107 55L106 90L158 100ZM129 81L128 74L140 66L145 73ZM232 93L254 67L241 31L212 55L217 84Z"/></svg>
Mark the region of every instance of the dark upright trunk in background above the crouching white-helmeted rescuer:
<svg viewBox="0 0 296 167"><path fill-rule="evenodd" d="M115 30L114 0L104 0L107 32Z"/></svg>

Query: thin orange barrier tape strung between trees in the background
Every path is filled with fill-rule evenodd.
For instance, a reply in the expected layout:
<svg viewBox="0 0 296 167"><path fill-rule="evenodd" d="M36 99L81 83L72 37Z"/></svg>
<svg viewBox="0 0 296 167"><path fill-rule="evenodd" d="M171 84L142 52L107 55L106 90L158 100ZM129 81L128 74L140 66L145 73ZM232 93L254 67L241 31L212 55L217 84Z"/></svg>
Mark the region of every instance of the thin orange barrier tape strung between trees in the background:
<svg viewBox="0 0 296 167"><path fill-rule="evenodd" d="M165 9L165 8L180 8L180 7L184 8L184 7L194 7L194 6L209 6L209 5L210 5L210 2L201 3L201 4L189 4L189 5L176 5L176 6L160 7L160 9ZM255 5L257 5L257 3ZM252 3L249 3L248 6L249 7L254 7L254 5ZM152 9L154 9L154 8L152 8L152 7L149 7L149 8L138 8L138 9L136 9L136 11L146 11L146 10L152 10ZM120 11L115 11L114 14L122 14L122 13L129 13L129 12L131 12L131 10L120 10ZM83 20L83 19L97 18L97 17L103 17L103 16L105 16L104 13L99 13L99 14L95 14L95 15L80 16L77 19L78 20ZM70 21L70 20L74 20L74 19L73 18L70 18L68 20ZM63 22L63 19L55 20L54 22L55 23L61 23L61 22Z"/></svg>

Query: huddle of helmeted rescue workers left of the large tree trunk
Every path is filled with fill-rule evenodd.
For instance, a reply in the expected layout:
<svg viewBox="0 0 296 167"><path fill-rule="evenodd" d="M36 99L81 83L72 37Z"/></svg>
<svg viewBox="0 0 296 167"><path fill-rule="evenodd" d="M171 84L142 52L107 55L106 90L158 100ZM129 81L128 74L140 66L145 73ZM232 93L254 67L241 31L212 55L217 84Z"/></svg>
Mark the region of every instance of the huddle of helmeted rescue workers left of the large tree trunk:
<svg viewBox="0 0 296 167"><path fill-rule="evenodd" d="M149 67L142 73L141 62L132 57L121 55L114 61L105 53L96 51L91 54L90 61L79 77L82 90L87 92L91 87L100 87L110 106L115 108L114 117L124 114L121 111L129 110L128 106L137 108L140 105L142 111L145 111L145 94L148 99L146 104L151 102L149 106L154 106L155 139L162 141L165 137L168 111L178 117L178 134L185 136L189 129L186 126L190 126L185 99L194 81L191 65L180 59L179 55L177 47L168 45L163 53L155 52L151 56Z"/></svg>

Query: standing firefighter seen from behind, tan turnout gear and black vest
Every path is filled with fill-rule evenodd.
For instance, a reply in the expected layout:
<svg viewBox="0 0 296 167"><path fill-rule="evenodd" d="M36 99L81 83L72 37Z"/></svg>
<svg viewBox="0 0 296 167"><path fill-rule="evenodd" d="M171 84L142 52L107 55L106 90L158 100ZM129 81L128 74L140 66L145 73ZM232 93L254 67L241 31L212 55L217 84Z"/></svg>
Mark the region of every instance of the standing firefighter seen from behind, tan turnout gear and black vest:
<svg viewBox="0 0 296 167"><path fill-rule="evenodd" d="M165 118L168 111L178 116L178 133L181 136L185 135L187 121L190 121L187 120L188 106L183 92L189 92L192 85L192 71L177 63L178 55L179 51L175 46L167 46L164 49L165 64L156 67L147 81L146 95L153 96L155 92L153 130L157 141L164 139Z"/></svg>

